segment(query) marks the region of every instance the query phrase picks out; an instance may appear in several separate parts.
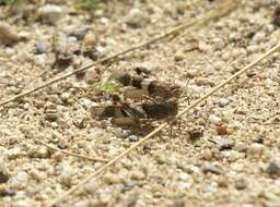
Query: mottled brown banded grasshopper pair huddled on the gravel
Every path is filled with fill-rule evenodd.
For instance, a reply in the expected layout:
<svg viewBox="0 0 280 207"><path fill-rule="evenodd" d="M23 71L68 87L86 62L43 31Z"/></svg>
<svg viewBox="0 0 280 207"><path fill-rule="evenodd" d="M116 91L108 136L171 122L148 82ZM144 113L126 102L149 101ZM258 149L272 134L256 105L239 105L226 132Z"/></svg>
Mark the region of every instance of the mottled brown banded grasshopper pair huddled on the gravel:
<svg viewBox="0 0 280 207"><path fill-rule="evenodd" d="M109 106L91 108L93 117L112 118L118 125L138 125L143 120L163 120L177 114L178 86L149 78L147 72L136 69L136 75L122 71L113 72L110 80L121 84L119 94L112 94Z"/></svg>

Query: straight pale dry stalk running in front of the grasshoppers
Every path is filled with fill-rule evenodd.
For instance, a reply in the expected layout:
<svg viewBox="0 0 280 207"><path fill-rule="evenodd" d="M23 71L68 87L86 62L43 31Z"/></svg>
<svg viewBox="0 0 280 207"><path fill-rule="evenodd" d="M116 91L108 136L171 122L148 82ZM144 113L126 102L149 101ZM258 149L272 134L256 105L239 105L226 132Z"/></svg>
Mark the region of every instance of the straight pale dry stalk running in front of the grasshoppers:
<svg viewBox="0 0 280 207"><path fill-rule="evenodd" d="M208 92L206 95L203 95L201 98L199 98L198 100L196 100L194 104L189 105L187 108L185 108L183 111L180 111L175 119L178 119L180 117L183 117L185 113L189 112L191 109L194 109L195 107L199 106L201 102L203 102L208 97L210 97L211 95L213 95L214 93L217 93L219 89L221 89L223 86L225 86L226 84L229 84L231 81L233 81L234 78L238 77L240 75L244 74L245 72L247 72L249 69L252 69L253 66L255 66L257 63L259 63L261 60L268 58L269 56L271 56L272 53L275 53L277 50L280 49L280 42L275 46L273 48L271 48L269 51L267 51L265 54L262 54L260 58L258 58L257 60L253 61L252 63L249 63L248 65L246 65L245 68L243 68L242 70L240 70L238 72L236 72L235 74L233 74L232 76L230 76L228 80L225 80L224 82L222 82L221 84L217 85L215 87L213 87L212 89L210 89L210 92ZM135 148L139 147L142 143L144 143L145 141L148 141L149 138L151 138L152 136L154 136L158 132L160 132L161 130L163 130L165 126L167 126L167 123L163 123L161 124L159 127L156 127L153 132L151 132L150 134L148 134L147 136L144 136L142 139L140 139L138 143L136 143L135 145L132 145L130 148L128 148L127 150L125 150L122 154L120 154L119 156L115 157L114 159L112 159L109 162L107 162L106 165L104 165L103 167L101 167L97 171L95 171L93 174L89 175L88 178L85 178L83 181L81 181L78 185L73 186L72 188L70 188L69 191L67 191L66 193L63 193L61 196L59 196L57 199L55 199L51 204L48 205L48 207L52 207L54 205L58 204L59 202L63 200L66 198L66 196L72 194L74 191L77 191L78 188L80 188L81 186L83 186L85 183L88 183L90 180L96 178L97 175L100 175L101 173L105 172L107 170L108 167L115 165L118 160L120 160L122 157L127 156L130 151L132 151Z"/></svg>

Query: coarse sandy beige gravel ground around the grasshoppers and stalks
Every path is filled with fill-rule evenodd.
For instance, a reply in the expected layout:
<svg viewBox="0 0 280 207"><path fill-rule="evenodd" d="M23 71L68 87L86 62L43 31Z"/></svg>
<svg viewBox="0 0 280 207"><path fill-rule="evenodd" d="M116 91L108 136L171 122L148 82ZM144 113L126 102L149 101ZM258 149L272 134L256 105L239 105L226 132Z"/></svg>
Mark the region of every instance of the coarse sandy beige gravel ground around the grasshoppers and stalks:
<svg viewBox="0 0 280 207"><path fill-rule="evenodd" d="M1 100L93 62L74 54L70 64L58 66L54 44L63 51L94 45L95 59L107 57L222 1L114 0L90 12L46 2L50 7L28 4L16 12L0 7L1 23L11 26L4 27L11 42L0 46ZM186 89L188 100L180 104L186 106L278 42L279 28L271 23L277 3L243 0L219 21L96 69L142 65ZM84 34L90 40L80 39ZM198 47L191 50L194 42ZM272 54L184 115L172 134L164 130L59 206L280 206L279 64L279 53ZM104 165L35 139L110 159L140 138L91 117L94 100L84 89L94 75L90 70L1 109L0 207L47 205Z"/></svg>

